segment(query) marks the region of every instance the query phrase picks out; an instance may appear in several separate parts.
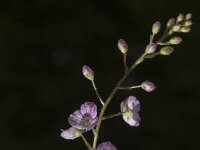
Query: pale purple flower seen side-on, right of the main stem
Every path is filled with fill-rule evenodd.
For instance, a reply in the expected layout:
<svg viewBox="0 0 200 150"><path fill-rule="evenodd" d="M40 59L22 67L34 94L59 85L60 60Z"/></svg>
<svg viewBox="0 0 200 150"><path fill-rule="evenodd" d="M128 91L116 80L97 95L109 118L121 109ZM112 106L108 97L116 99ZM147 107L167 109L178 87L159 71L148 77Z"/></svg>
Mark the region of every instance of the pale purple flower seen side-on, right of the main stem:
<svg viewBox="0 0 200 150"><path fill-rule="evenodd" d="M121 102L122 117L129 125L137 127L141 121L138 112L140 111L140 102L134 96L129 96Z"/></svg>

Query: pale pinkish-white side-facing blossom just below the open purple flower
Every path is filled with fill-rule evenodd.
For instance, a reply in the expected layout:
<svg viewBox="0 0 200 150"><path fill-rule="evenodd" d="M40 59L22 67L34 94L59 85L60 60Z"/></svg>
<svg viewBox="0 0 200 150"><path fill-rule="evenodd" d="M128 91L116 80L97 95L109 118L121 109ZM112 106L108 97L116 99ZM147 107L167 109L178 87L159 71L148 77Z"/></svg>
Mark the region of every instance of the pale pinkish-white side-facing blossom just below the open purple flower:
<svg viewBox="0 0 200 150"><path fill-rule="evenodd" d="M60 134L60 136L67 140L73 140L73 139L79 137L81 134L82 134L81 130L71 127L67 130L63 130L62 133Z"/></svg>

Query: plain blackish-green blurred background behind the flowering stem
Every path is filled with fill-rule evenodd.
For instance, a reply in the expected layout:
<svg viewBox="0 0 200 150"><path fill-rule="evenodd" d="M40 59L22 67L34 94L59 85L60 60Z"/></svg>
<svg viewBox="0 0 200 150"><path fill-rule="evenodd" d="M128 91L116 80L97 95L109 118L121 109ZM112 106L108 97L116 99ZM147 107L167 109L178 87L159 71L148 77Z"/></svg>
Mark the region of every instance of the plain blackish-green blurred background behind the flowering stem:
<svg viewBox="0 0 200 150"><path fill-rule="evenodd" d="M107 114L118 112L120 102L135 95L140 127L114 118L103 123L99 142L110 140L119 150L199 150L199 6L198 0L1 1L0 149L86 149L81 139L60 137L70 113L85 101L98 103L82 66L93 68L105 98L123 74L118 39L127 41L131 64L155 21L164 27L169 18L191 12L192 32L181 35L173 55L147 60L125 82L148 79L155 92L120 91L109 105Z"/></svg>

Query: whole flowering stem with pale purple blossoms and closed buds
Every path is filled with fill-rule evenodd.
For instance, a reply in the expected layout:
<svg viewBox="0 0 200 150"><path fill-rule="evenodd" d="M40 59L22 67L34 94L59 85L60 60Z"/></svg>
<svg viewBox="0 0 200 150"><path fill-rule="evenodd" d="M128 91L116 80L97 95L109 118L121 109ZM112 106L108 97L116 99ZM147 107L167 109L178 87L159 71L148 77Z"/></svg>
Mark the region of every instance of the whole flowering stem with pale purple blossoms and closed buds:
<svg viewBox="0 0 200 150"><path fill-rule="evenodd" d="M124 75L118 81L116 86L111 91L110 95L105 100L102 99L100 93L96 88L94 80L94 71L89 66L84 65L82 68L82 73L88 80L91 81L96 96L102 104L102 108L100 114L98 114L97 106L94 102L85 102L84 104L82 104L80 109L74 111L69 116L68 122L71 125L71 127L67 130L62 130L61 137L67 140L73 140L75 138L81 137L89 150L117 150L117 148L109 141L103 142L97 146L97 140L99 136L101 123L105 119L111 119L116 116L122 116L123 120L127 124L133 127L138 127L141 121L141 118L139 116L140 101L135 96L129 96L121 102L120 112L106 116L104 115L104 113L108 108L110 101L112 100L113 96L118 90L132 90L135 88L141 88L147 92L152 92L155 90L155 84L150 81L144 81L140 85L128 87L122 86L122 84L124 80L130 75L130 73L146 59L151 59L158 55L171 55L174 51L172 46L178 45L182 41L180 37L172 35L178 32L190 32L190 26L192 25L191 19L191 13L188 13L185 16L183 14L179 14L176 19L169 19L166 24L166 28L163 35L158 40L154 40L154 37L161 31L161 24L159 21L155 22L152 26L152 34L150 35L149 44L146 46L144 53L138 59L136 59L130 67L127 65L126 62L128 45L125 42L125 40L120 39L118 41L117 46L123 54ZM89 131L92 131L94 135L92 145L84 137L84 133Z"/></svg>

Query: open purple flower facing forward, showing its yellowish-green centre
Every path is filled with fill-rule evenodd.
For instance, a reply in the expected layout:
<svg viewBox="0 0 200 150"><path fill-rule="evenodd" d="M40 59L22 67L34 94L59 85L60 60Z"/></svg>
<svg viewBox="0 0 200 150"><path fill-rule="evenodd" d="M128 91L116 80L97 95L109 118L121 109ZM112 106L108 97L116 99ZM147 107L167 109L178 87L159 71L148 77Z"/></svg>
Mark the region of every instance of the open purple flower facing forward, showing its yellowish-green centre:
<svg viewBox="0 0 200 150"><path fill-rule="evenodd" d="M80 110L76 110L68 119L71 126L85 131L95 127L97 121L97 106L93 102L82 104Z"/></svg>

